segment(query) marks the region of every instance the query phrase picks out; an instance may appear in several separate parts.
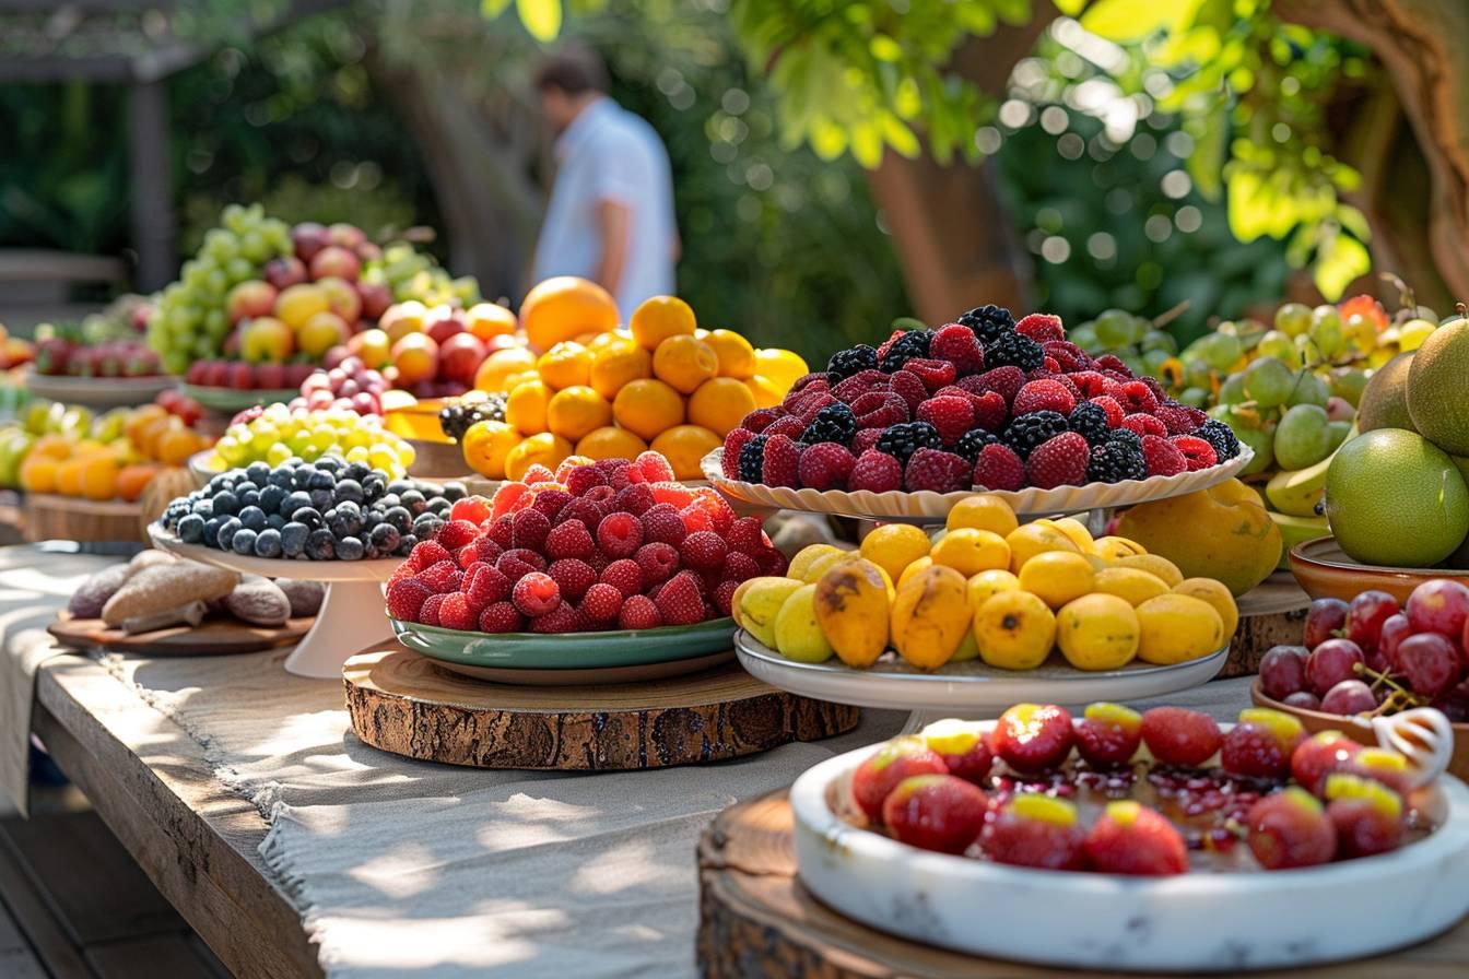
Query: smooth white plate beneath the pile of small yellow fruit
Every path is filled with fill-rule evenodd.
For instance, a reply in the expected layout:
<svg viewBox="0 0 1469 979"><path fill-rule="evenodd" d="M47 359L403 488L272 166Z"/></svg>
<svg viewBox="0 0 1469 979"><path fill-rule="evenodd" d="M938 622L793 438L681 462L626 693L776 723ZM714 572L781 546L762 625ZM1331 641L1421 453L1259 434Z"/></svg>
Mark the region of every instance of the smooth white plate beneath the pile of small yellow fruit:
<svg viewBox="0 0 1469 979"><path fill-rule="evenodd" d="M734 633L739 662L771 687L815 700L889 710L1003 710L1014 703L1084 705L1093 700L1141 700L1188 690L1213 680L1230 655L1228 646L1172 666L1134 660L1122 669L1086 672L1058 653L1036 669L997 669L981 659L925 672L884 656L868 669L837 659L798 663L762 646L745 630Z"/></svg>

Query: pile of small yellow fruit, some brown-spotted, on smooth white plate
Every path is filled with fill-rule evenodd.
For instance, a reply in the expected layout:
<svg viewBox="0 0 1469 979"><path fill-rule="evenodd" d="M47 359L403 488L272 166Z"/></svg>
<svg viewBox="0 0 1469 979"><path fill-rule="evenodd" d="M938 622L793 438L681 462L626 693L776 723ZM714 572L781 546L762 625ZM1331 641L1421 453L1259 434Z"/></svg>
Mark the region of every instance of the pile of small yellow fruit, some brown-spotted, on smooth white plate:
<svg viewBox="0 0 1469 979"><path fill-rule="evenodd" d="M955 506L931 543L886 524L859 550L811 545L786 577L740 584L733 615L787 659L859 669L889 647L921 669L1034 669L1053 649L1086 671L1168 665L1213 653L1238 624L1219 581L1185 580L1125 537L1093 540L1069 517L1019 525L992 496Z"/></svg>

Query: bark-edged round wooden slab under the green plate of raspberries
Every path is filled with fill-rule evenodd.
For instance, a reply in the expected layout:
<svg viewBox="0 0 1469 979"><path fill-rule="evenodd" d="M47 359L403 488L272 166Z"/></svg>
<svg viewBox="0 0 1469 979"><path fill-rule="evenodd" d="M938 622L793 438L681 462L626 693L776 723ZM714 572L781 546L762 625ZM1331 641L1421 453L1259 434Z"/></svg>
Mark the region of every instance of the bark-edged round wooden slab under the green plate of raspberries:
<svg viewBox="0 0 1469 979"><path fill-rule="evenodd" d="M768 687L737 665L645 684L479 683L401 647L342 666L353 731L427 762L626 771L721 762L856 727L856 707Z"/></svg>

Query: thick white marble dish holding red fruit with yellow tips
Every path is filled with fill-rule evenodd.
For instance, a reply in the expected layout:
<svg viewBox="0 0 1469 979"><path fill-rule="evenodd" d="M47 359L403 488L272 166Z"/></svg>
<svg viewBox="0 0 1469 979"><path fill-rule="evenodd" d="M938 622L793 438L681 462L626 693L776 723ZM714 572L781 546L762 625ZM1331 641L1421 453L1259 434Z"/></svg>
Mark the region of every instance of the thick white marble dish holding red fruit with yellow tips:
<svg viewBox="0 0 1469 979"><path fill-rule="evenodd" d="M829 796L878 747L796 779L796 865L823 903L912 941L1068 969L1240 973L1401 948L1469 911L1469 788L1448 775L1431 790L1440 828L1393 853L1299 870L1125 878L930 853L846 823Z"/></svg>

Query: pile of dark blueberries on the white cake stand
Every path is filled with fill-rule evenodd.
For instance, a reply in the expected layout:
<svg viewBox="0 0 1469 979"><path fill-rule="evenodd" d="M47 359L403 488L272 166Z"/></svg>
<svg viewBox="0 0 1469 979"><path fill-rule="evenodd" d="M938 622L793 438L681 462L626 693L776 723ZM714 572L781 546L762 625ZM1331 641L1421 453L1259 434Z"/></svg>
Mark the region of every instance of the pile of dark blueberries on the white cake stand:
<svg viewBox="0 0 1469 979"><path fill-rule="evenodd" d="M251 462L175 499L163 525L187 545L250 558L375 561L403 558L438 533L463 483L389 478L366 462Z"/></svg>

